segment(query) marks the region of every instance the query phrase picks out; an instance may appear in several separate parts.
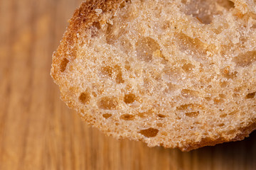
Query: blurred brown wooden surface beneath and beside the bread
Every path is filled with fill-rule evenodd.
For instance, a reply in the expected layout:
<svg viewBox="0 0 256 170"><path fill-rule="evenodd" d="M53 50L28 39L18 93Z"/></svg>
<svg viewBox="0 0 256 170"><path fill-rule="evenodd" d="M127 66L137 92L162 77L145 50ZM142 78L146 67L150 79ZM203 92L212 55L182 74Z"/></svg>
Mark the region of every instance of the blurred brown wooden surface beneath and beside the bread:
<svg viewBox="0 0 256 170"><path fill-rule="evenodd" d="M74 0L0 0L0 170L256 169L256 132L192 152L117 141L60 101L51 55Z"/></svg>

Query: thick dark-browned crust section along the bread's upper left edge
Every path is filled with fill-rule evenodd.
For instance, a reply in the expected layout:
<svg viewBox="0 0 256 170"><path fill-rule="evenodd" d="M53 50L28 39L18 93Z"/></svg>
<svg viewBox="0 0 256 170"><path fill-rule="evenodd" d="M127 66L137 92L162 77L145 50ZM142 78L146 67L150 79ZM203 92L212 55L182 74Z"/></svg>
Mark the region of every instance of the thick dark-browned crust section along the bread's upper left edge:
<svg viewBox="0 0 256 170"><path fill-rule="evenodd" d="M60 62L63 58L72 61L76 57L78 35L90 29L93 23L100 21L103 13L114 13L123 0L90 0L80 4L69 21L69 26L60 41L56 52L53 53L51 76L58 84L60 74ZM102 14L97 15L95 9L102 9Z"/></svg>

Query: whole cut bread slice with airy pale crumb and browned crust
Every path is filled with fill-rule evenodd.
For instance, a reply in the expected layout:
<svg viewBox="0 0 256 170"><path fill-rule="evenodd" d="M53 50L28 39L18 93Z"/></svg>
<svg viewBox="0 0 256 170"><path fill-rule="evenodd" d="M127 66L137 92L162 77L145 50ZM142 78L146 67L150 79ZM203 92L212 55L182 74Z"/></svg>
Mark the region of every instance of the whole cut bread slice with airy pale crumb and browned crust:
<svg viewBox="0 0 256 170"><path fill-rule="evenodd" d="M53 54L61 98L106 135L183 151L256 128L256 3L95 0Z"/></svg>

